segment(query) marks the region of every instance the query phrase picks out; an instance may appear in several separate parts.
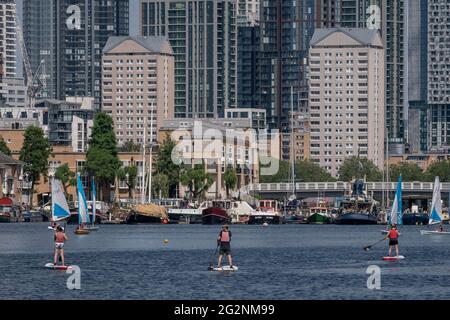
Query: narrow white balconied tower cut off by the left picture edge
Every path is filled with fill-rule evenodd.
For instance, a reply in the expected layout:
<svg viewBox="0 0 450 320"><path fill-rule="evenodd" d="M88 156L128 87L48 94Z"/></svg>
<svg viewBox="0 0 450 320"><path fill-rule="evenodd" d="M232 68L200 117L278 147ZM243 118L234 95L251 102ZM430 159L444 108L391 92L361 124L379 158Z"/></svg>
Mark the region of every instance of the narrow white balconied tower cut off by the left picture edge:
<svg viewBox="0 0 450 320"><path fill-rule="evenodd" d="M16 4L13 0L0 0L0 56L3 78L16 77Z"/></svg>

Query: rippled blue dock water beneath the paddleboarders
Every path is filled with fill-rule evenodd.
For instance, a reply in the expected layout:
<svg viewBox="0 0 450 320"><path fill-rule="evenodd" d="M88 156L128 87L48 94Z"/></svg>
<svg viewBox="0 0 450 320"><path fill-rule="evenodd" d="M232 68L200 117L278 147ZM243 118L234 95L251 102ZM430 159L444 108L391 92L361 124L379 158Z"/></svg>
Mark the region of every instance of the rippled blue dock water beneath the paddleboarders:
<svg viewBox="0 0 450 320"><path fill-rule="evenodd" d="M52 261L46 224L0 224L1 299L448 299L450 236L401 228L401 254L387 263L381 226L232 226L239 272L207 271L216 226L101 226L75 236L69 226L68 264L82 270L81 290L68 275L43 268ZM163 243L164 239L170 242ZM366 269L382 269L380 291L366 287Z"/></svg>

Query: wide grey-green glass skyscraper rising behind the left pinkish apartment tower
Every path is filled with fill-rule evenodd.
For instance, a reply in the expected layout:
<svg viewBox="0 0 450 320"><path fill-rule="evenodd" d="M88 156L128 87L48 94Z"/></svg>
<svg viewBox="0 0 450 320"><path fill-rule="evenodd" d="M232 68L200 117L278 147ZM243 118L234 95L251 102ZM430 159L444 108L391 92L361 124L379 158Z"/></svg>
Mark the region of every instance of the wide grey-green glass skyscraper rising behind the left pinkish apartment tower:
<svg viewBox="0 0 450 320"><path fill-rule="evenodd" d="M236 3L142 0L141 34L164 36L175 57L175 117L223 117L236 107Z"/></svg>

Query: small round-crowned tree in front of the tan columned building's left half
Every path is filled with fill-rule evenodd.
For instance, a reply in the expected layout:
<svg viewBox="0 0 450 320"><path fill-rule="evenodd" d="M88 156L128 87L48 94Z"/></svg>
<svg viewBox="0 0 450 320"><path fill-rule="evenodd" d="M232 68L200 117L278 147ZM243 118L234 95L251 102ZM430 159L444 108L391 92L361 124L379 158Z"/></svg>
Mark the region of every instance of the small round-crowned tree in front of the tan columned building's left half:
<svg viewBox="0 0 450 320"><path fill-rule="evenodd" d="M188 188L191 198L195 200L203 198L213 182L213 178L205 171L203 164L195 165L181 175L181 184Z"/></svg>

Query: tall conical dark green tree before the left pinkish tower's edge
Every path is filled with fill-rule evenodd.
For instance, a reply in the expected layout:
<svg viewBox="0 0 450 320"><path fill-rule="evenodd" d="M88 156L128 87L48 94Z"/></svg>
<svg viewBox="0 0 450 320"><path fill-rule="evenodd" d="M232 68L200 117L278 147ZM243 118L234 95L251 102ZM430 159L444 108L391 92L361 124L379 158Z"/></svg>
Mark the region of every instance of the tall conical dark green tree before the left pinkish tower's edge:
<svg viewBox="0 0 450 320"><path fill-rule="evenodd" d="M100 199L103 200L103 189L114 183L119 168L113 120L104 112L97 113L86 155L86 171L96 177Z"/></svg>

